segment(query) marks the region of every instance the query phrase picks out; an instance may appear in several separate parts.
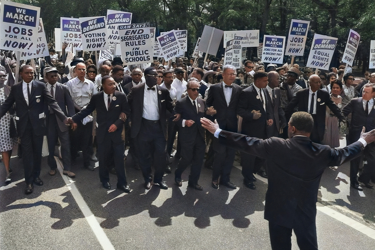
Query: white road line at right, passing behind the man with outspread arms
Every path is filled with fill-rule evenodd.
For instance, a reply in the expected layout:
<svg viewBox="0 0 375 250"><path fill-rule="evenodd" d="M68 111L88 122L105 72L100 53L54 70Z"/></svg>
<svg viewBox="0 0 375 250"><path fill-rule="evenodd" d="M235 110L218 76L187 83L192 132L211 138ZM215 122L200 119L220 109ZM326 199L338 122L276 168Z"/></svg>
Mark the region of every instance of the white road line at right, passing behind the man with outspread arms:
<svg viewBox="0 0 375 250"><path fill-rule="evenodd" d="M242 167L241 167L240 163L238 163L236 161L234 161L233 166L235 166L236 168L242 170ZM264 181L264 183L268 184L268 180L267 179L262 178L259 175L255 175L255 177L258 180ZM368 226L363 225L362 223L357 222L356 220L353 220L350 217L345 216L344 214L341 214L338 211L333 210L332 208L327 207L327 206L321 204L320 202L317 202L317 210L320 211L320 212L322 212L322 213L324 213L324 214L327 214L328 216L332 217L333 219L336 219L339 222L342 222L342 223L350 226L351 228L354 228L357 231L361 232L362 234L365 234L368 237L370 237L370 238L372 238L372 239L375 240L375 230L374 229L369 228Z"/></svg>

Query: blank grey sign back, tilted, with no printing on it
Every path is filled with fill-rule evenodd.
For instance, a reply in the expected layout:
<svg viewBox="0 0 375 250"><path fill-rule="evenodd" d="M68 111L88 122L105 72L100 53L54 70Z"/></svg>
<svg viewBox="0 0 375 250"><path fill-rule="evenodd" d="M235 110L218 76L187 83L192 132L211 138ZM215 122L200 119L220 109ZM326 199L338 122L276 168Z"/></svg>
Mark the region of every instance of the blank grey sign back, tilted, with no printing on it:
<svg viewBox="0 0 375 250"><path fill-rule="evenodd" d="M204 29L199 42L198 51L206 52L206 54L216 55L219 49L224 31L217 28L204 25ZM205 56L207 59L207 55Z"/></svg>

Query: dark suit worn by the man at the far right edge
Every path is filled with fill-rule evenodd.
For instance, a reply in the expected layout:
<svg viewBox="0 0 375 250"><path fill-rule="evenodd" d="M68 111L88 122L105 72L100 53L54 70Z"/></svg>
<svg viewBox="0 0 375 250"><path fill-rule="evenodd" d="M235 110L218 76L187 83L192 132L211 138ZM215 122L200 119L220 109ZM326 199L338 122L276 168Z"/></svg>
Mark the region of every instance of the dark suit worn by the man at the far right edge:
<svg viewBox="0 0 375 250"><path fill-rule="evenodd" d="M360 138L363 127L366 128L366 132L375 129L375 109L372 108L370 113L366 114L363 108L362 97L351 99L342 109L342 113L345 116L348 116L350 113L352 114L349 133L347 135L348 145ZM369 183L371 178L375 180L375 142L370 143L365 148L362 157L350 161L350 183L353 185L358 184L357 174L363 157L367 163L363 165L363 172L359 179L361 182Z"/></svg>

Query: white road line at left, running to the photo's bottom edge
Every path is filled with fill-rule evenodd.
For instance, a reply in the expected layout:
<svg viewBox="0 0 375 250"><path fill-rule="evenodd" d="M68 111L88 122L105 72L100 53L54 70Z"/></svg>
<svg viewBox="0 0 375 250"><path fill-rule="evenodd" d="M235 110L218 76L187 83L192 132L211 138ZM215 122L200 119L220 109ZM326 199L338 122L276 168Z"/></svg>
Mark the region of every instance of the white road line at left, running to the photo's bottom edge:
<svg viewBox="0 0 375 250"><path fill-rule="evenodd" d="M68 186L70 192L73 195L73 198L77 202L78 207L80 207L83 215L85 216L85 219L89 223L96 238L98 238L99 243L101 244L104 250L115 250L111 241L108 239L107 235L104 233L103 229L99 225L98 220L96 220L94 214L91 212L90 208L87 206L86 202L84 201L83 197L81 196L80 192L75 186L74 181L72 181L72 179L68 176L63 175L62 164L58 157L55 157L55 159L57 162L57 169L60 172L60 175L63 177L66 186Z"/></svg>

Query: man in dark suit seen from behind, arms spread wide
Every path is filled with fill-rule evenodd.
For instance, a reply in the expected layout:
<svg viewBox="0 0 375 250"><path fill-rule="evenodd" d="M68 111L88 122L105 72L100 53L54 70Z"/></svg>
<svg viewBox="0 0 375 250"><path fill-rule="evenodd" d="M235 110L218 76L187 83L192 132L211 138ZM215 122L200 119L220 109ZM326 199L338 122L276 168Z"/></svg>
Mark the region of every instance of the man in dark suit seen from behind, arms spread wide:
<svg viewBox="0 0 375 250"><path fill-rule="evenodd" d="M316 144L309 139L314 120L306 112L292 115L287 140L276 137L262 140L228 132L206 118L201 123L220 143L266 159L268 188L264 219L269 221L273 250L291 249L292 230L300 249L318 249L316 202L324 169L354 159L375 140L372 130L362 133L357 142L345 148Z"/></svg>

